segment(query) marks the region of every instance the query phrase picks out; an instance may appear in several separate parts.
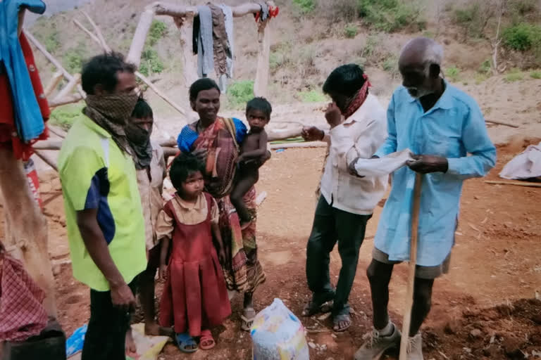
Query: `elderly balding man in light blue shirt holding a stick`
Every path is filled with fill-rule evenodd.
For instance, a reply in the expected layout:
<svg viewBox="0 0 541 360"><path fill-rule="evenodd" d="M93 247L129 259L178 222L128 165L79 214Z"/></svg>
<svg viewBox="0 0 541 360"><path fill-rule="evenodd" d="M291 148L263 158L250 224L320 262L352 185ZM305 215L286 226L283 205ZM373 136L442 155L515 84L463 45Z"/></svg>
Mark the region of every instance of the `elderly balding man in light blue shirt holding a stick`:
<svg viewBox="0 0 541 360"><path fill-rule="evenodd" d="M409 41L399 58L403 86L387 110L388 137L381 158L409 148L415 161L392 176L367 275L371 285L373 332L356 360L379 359L399 348L401 334L387 313L394 264L409 260L415 174L423 176L418 255L409 328L410 360L423 359L419 329L430 311L434 279L447 273L454 245L462 183L494 167L496 149L475 100L440 77L443 49L432 39ZM469 156L468 156L469 154ZM356 160L350 164L354 169Z"/></svg>

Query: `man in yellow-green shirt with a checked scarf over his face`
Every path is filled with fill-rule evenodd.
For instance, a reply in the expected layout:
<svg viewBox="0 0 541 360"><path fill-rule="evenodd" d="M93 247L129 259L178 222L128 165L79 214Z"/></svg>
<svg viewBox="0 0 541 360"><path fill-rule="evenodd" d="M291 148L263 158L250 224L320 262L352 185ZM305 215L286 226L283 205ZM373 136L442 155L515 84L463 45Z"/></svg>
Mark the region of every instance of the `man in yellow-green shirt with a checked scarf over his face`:
<svg viewBox="0 0 541 360"><path fill-rule="evenodd" d="M73 276L90 288L82 360L125 359L134 279L147 266L134 151L125 135L138 98L134 72L117 53L85 64L85 117L58 158Z"/></svg>

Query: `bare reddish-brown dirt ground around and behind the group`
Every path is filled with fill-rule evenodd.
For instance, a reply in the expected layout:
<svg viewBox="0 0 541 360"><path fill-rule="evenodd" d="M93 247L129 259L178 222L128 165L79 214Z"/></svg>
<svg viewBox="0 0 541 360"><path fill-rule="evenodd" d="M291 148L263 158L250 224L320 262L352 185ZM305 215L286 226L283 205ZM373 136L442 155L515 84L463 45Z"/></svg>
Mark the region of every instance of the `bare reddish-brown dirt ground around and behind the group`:
<svg viewBox="0 0 541 360"><path fill-rule="evenodd" d="M498 164L488 179L499 179L502 166L527 143L499 146ZM258 310L279 297L300 315L308 300L305 247L323 156L323 148L285 150L273 153L261 169L257 188L268 197L259 210L258 243L267 281L255 295ZM59 320L70 335L89 317L89 291L71 274L58 178L52 172L41 177ZM540 204L541 188L495 186L483 179L466 181L451 271L435 283L433 309L424 326L425 359L541 357L541 302L535 300L535 291L541 291ZM371 328L365 270L380 212L378 207L361 248L350 297L354 325L346 333L333 334L330 319L303 319L309 342L315 345L311 359L352 359ZM340 257L336 251L331 263L331 276L337 278ZM406 264L395 267L390 288L390 312L396 323L402 321L406 271ZM168 345L160 359L250 359L251 341L239 326L240 296L232 300L232 307L230 320L216 329L216 349L185 356Z"/></svg>

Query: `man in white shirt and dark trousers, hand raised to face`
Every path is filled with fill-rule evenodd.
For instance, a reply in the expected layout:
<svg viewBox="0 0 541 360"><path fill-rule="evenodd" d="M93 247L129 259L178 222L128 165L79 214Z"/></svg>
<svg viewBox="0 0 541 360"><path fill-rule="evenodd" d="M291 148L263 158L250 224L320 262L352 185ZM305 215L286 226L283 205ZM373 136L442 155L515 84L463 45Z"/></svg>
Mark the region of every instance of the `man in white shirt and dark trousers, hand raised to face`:
<svg viewBox="0 0 541 360"><path fill-rule="evenodd" d="M316 127L302 131L306 141L325 139L330 146L306 248L306 278L313 296L303 315L325 311L332 301L334 330L338 332L352 325L348 298L359 249L366 223L387 186L387 176L361 178L347 169L356 158L371 158L387 136L385 110L368 94L368 86L368 77L358 65L333 70L323 84L323 92L332 98L325 112L330 131ZM329 262L336 243L342 269L335 290L330 284Z"/></svg>

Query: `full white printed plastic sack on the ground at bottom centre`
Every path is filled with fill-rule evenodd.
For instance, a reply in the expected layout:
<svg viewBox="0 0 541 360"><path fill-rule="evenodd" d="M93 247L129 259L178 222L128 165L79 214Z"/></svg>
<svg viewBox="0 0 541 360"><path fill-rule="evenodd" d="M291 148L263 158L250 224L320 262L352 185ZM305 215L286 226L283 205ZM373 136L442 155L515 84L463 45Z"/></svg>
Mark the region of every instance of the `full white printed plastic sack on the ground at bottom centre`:
<svg viewBox="0 0 541 360"><path fill-rule="evenodd" d="M254 360L310 359L304 327L280 299L256 315L250 334Z"/></svg>

